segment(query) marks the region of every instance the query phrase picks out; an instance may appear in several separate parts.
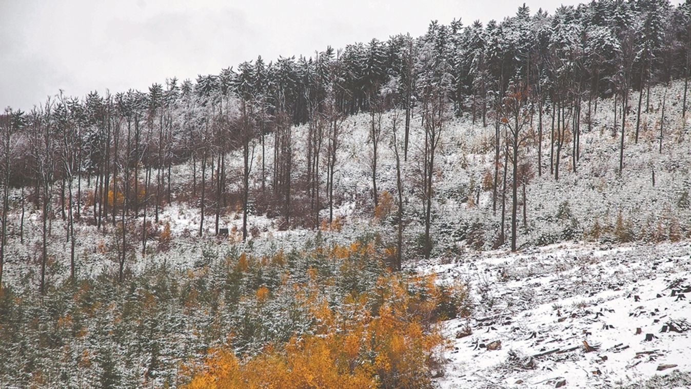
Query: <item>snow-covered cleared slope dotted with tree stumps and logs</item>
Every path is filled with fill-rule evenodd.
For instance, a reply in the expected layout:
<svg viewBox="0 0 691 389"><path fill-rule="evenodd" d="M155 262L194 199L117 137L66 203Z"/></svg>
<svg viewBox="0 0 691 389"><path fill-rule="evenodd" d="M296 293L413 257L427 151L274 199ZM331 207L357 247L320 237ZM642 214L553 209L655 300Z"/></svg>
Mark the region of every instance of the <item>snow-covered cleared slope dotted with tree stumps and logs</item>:
<svg viewBox="0 0 691 389"><path fill-rule="evenodd" d="M691 243L574 243L418 268L475 292L473 319L444 325L442 388L610 388L691 371Z"/></svg>

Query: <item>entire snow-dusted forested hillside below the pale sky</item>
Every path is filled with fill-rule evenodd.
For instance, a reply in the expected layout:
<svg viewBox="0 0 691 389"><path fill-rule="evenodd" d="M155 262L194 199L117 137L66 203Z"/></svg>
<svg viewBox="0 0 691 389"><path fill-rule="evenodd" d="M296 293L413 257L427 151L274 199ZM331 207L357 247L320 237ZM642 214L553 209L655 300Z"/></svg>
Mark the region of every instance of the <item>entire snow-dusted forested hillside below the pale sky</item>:
<svg viewBox="0 0 691 389"><path fill-rule="evenodd" d="M690 80L599 0L8 107L0 388L691 388Z"/></svg>

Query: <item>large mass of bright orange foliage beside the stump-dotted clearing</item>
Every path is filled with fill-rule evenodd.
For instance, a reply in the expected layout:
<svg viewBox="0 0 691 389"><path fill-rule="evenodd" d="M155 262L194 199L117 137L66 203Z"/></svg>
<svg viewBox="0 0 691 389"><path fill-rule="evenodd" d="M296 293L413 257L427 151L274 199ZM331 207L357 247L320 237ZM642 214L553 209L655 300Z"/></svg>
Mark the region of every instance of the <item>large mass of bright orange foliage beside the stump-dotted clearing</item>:
<svg viewBox="0 0 691 389"><path fill-rule="evenodd" d="M334 248L334 255L368 245ZM318 282L314 269L310 281ZM319 287L299 294L313 317L309 335L293 336L282 349L268 347L240 360L212 350L191 374L188 388L423 388L438 366L446 341L431 317L439 290L433 276L387 274L375 290L350 294L340 308L319 298ZM257 298L269 291L259 288Z"/></svg>

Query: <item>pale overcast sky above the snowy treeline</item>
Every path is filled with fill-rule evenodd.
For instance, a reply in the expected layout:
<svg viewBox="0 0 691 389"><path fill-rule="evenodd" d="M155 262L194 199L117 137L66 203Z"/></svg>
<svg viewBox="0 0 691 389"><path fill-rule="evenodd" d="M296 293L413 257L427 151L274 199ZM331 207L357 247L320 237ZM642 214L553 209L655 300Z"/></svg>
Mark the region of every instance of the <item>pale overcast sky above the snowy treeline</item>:
<svg viewBox="0 0 691 389"><path fill-rule="evenodd" d="M577 0L528 1L553 12ZM0 0L0 109L47 95L146 89L262 55L312 55L430 20L464 25L514 15L523 0Z"/></svg>

